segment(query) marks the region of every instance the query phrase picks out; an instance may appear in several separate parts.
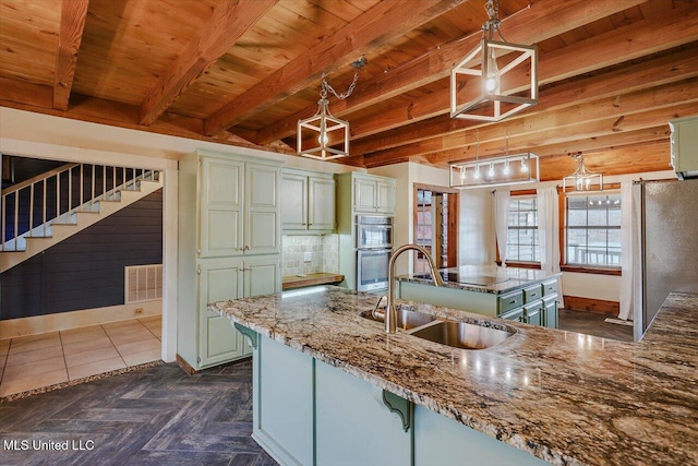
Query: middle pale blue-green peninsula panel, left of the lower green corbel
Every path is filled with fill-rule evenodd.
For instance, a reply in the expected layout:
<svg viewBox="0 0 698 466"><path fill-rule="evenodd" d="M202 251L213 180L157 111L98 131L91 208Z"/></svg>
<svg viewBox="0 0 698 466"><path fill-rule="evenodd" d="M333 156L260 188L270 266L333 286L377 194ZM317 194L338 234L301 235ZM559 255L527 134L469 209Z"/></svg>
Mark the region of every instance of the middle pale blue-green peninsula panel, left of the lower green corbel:
<svg viewBox="0 0 698 466"><path fill-rule="evenodd" d="M410 464L411 432L384 404L383 391L321 361L315 361L315 432L317 466Z"/></svg>

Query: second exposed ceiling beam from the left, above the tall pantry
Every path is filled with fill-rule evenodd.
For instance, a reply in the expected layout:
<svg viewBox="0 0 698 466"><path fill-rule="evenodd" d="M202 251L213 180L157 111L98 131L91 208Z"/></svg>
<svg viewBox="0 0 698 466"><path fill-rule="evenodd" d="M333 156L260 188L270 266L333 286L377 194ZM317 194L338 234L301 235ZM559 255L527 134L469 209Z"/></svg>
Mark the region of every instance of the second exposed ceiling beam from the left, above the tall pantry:
<svg viewBox="0 0 698 466"><path fill-rule="evenodd" d="M224 56L278 0L221 1L174 64L160 77L139 109L139 122L151 124L186 87Z"/></svg>

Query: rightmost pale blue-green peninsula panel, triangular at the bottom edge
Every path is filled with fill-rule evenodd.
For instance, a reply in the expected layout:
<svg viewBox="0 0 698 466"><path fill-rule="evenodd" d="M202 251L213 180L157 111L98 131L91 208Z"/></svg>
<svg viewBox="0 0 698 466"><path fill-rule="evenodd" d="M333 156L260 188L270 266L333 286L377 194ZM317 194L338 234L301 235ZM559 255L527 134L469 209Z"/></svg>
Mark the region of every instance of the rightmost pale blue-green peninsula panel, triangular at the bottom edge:
<svg viewBox="0 0 698 466"><path fill-rule="evenodd" d="M414 406L414 466L542 466L544 464L547 463L490 435L431 409Z"/></svg>

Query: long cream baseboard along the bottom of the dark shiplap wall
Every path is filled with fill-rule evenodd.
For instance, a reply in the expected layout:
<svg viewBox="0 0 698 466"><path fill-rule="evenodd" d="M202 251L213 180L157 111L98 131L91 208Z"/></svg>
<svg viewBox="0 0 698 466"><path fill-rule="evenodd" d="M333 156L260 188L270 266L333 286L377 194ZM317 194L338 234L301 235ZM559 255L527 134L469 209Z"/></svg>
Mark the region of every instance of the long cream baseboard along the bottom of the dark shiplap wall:
<svg viewBox="0 0 698 466"><path fill-rule="evenodd" d="M135 313L140 309L142 312ZM31 318L0 321L0 339L38 335L109 322L142 319L163 313L163 300L135 302L132 304L110 306L107 308L83 309L56 314L34 315Z"/></svg>

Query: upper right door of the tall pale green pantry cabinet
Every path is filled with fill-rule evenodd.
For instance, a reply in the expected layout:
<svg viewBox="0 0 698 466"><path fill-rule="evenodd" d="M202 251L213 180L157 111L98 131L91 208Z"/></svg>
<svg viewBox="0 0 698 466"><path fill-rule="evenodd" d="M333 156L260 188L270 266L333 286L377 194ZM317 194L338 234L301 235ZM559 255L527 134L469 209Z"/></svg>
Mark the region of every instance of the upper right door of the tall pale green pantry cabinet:
<svg viewBox="0 0 698 466"><path fill-rule="evenodd" d="M280 253L279 188L281 170L245 165L244 253Z"/></svg>

